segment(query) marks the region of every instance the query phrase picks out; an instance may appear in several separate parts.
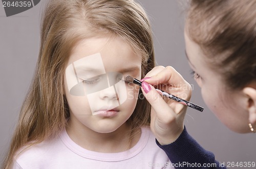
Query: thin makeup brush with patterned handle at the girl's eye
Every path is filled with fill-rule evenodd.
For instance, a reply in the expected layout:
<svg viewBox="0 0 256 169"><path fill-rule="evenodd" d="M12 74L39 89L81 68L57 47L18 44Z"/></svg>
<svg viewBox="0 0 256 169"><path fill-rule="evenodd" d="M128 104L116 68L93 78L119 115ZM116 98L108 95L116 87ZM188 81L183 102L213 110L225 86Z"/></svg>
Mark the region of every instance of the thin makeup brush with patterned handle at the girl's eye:
<svg viewBox="0 0 256 169"><path fill-rule="evenodd" d="M134 84L139 85L139 86L141 86L141 84L142 84L141 81L139 81L138 79L135 79L135 78L133 78L133 77L131 77L131 76L127 76L127 77L125 78L125 81L126 81L126 82L129 82L129 83L134 83ZM173 95L173 94L170 94L170 93L168 93L168 92L166 92L166 91L163 91L163 90L160 90L160 89L156 89L156 91L157 91L159 94L161 94L161 95L163 95L163 96L165 96L165 97L167 97L167 98L169 98L169 99L172 99L172 100L174 100L174 101L176 101L176 102L179 102L179 103L181 103L181 104L183 104L183 105L186 105L186 106L191 107L191 108L193 108L193 109L196 109L196 110L198 110L198 111L201 111L201 112L202 112L202 111L204 110L203 107L198 106L198 105L196 105L196 104L194 104L194 103L188 102L188 101L186 101L186 100L184 100L184 99L178 98L177 96L175 96L175 95Z"/></svg>

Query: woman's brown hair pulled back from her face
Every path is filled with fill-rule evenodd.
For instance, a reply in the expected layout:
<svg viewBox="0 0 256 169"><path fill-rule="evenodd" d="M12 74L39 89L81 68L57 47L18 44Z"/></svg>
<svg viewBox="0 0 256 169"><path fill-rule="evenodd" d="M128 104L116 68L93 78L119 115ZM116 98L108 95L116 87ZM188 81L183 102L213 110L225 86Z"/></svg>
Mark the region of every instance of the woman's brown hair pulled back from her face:
<svg viewBox="0 0 256 169"><path fill-rule="evenodd" d="M186 32L229 89L256 81L255 0L191 0Z"/></svg>

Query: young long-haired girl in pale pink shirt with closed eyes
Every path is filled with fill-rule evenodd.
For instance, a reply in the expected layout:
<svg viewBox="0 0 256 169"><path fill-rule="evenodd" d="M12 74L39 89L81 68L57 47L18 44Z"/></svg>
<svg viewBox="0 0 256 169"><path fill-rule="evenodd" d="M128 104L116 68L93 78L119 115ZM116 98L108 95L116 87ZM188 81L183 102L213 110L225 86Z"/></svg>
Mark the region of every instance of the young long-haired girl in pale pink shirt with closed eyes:
<svg viewBox="0 0 256 169"><path fill-rule="evenodd" d="M3 168L173 168L147 127L150 104L124 83L153 67L151 28L133 0L49 1L33 83ZM152 113L151 128L164 142L164 126L155 122L165 116Z"/></svg>

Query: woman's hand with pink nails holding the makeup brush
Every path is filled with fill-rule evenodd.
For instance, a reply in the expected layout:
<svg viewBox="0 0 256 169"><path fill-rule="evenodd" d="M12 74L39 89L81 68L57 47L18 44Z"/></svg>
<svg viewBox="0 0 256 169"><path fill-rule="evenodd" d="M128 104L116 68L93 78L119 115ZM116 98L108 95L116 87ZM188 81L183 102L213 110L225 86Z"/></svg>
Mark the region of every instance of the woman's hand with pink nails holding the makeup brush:
<svg viewBox="0 0 256 169"><path fill-rule="evenodd" d="M147 79L147 77L150 78ZM154 67L142 81L142 92L152 106L152 132L162 145L174 142L184 129L183 120L187 106L168 98L162 98L155 88L189 101L191 86L171 66Z"/></svg>

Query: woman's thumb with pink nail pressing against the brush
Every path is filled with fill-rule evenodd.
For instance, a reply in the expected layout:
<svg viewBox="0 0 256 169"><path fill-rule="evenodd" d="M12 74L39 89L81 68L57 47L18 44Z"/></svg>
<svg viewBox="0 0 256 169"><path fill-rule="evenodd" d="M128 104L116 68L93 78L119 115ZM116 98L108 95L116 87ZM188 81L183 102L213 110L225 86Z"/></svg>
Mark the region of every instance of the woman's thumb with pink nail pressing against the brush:
<svg viewBox="0 0 256 169"><path fill-rule="evenodd" d="M158 115L164 117L170 115L170 113L174 113L173 109L168 106L152 85L147 82L142 82L141 87L146 100L151 104Z"/></svg>

